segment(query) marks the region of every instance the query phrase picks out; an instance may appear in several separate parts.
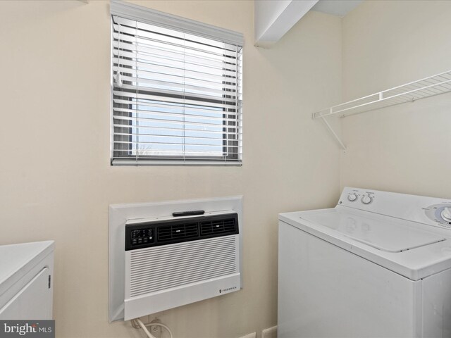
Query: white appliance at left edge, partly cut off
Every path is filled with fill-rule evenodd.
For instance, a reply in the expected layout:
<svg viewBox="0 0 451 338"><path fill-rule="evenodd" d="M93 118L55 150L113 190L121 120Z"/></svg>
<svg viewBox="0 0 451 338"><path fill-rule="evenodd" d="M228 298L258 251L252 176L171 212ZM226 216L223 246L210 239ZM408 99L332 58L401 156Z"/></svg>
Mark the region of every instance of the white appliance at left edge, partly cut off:
<svg viewBox="0 0 451 338"><path fill-rule="evenodd" d="M54 241L0 246L0 320L51 320Z"/></svg>

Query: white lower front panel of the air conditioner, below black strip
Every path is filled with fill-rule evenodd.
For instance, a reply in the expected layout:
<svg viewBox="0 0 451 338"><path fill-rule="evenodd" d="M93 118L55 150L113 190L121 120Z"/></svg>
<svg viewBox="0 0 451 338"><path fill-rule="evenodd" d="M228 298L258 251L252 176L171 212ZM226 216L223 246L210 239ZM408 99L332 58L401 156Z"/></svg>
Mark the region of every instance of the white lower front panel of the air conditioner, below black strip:
<svg viewBox="0 0 451 338"><path fill-rule="evenodd" d="M125 251L125 320L239 290L238 246L235 234Z"/></svg>

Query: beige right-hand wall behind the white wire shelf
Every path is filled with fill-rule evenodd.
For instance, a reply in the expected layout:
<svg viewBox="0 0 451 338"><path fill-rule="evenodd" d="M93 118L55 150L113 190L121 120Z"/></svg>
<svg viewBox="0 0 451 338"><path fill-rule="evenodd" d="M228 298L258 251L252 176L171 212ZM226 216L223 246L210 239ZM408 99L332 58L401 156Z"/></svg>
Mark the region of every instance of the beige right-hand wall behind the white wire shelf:
<svg viewBox="0 0 451 338"><path fill-rule="evenodd" d="M451 70L451 1L364 1L342 22L343 99ZM451 198L451 95L342 119L342 186Z"/></svg>

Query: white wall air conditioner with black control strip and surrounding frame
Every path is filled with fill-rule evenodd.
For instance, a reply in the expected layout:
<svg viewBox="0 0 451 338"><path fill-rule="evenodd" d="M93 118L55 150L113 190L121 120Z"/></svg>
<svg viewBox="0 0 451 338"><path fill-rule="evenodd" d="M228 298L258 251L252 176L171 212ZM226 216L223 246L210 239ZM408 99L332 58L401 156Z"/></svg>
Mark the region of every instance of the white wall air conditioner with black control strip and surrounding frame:
<svg viewBox="0 0 451 338"><path fill-rule="evenodd" d="M110 206L109 320L240 290L242 199ZM202 215L174 217L178 211Z"/></svg>

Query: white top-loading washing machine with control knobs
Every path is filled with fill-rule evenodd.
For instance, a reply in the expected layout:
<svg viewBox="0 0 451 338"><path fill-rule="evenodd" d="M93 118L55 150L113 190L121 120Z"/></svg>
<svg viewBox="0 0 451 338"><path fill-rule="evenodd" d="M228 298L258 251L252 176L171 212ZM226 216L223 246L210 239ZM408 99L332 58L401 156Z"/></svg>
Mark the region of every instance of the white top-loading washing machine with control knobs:
<svg viewBox="0 0 451 338"><path fill-rule="evenodd" d="M451 337L451 200L345 187L279 215L278 338Z"/></svg>

